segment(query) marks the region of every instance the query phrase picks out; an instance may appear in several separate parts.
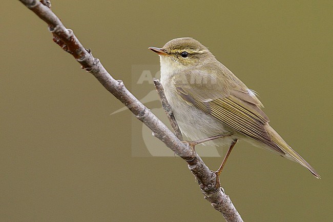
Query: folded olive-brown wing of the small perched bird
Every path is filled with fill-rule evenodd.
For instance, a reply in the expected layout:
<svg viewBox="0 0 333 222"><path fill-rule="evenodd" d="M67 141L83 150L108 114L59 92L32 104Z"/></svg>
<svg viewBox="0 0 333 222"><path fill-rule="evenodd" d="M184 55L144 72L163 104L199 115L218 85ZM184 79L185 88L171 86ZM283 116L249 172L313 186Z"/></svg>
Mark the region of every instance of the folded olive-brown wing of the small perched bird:
<svg viewBox="0 0 333 222"><path fill-rule="evenodd" d="M269 119L260 109L262 104L257 97L253 97L254 95L245 90L231 91L228 96L218 96L218 92L215 91L210 96L207 92L200 93L201 89L196 91L195 85L189 88L185 85L176 86L178 94L186 103L196 106L223 124L284 154L267 133L265 125Z"/></svg>

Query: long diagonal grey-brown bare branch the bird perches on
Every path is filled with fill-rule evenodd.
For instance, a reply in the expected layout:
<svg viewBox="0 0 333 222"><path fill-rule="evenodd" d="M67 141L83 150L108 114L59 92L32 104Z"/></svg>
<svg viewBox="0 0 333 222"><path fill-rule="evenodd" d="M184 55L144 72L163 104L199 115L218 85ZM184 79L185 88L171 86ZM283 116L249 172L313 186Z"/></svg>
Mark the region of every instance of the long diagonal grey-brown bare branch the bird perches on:
<svg viewBox="0 0 333 222"><path fill-rule="evenodd" d="M66 52L72 54L77 62L81 64L82 69L93 74L103 87L127 106L139 120L154 132L157 138L188 162L204 197L212 203L216 210L222 213L226 221L243 221L230 198L222 191L220 184L216 183L215 173L203 163L200 156L193 152L188 144L182 143L147 107L141 104L127 90L121 80L115 80L102 66L99 59L93 57L91 51L82 46L73 31L67 29L48 6L36 0L19 1L48 24L49 30L54 36L53 40Z"/></svg>

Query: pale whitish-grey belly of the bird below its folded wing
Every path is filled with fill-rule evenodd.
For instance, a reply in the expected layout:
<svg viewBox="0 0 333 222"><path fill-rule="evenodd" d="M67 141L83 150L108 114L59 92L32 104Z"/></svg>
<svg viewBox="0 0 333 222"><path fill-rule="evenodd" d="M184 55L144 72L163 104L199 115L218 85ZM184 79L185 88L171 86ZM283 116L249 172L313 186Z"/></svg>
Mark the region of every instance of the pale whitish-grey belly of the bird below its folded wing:
<svg viewBox="0 0 333 222"><path fill-rule="evenodd" d="M231 134L233 130L219 120L187 104L181 97L165 92L181 132L190 140L203 139L220 134ZM234 136L228 136L205 143L216 146L230 146ZM205 145L204 144L204 145Z"/></svg>

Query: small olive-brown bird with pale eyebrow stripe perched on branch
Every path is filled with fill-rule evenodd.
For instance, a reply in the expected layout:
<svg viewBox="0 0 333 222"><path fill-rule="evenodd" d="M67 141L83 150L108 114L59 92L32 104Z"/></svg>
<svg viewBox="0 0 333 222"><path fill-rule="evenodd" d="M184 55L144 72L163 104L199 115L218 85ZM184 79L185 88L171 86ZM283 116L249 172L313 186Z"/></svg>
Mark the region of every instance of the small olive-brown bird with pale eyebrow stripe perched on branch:
<svg viewBox="0 0 333 222"><path fill-rule="evenodd" d="M269 126L256 92L248 89L200 42L191 37L175 38L162 48L149 49L159 54L161 84L181 132L194 144L209 141L229 147L215 172L218 176L241 139L294 160L320 178Z"/></svg>

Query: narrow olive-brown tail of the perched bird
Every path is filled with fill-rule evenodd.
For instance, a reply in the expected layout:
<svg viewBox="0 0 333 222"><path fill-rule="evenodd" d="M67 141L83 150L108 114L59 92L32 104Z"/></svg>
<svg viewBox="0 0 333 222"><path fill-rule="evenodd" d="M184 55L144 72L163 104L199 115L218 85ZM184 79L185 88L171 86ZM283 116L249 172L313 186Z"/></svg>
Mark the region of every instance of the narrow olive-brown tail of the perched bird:
<svg viewBox="0 0 333 222"><path fill-rule="evenodd" d="M320 179L320 175L317 173L317 171L311 165L309 165L305 159L303 159L298 153L289 147L288 144L272 127L268 125L266 129L273 142L285 153L284 157L300 163L302 166L306 167L315 177Z"/></svg>

